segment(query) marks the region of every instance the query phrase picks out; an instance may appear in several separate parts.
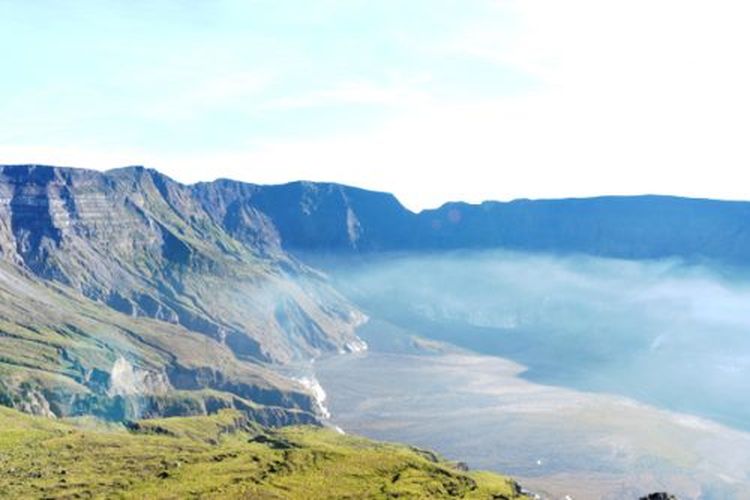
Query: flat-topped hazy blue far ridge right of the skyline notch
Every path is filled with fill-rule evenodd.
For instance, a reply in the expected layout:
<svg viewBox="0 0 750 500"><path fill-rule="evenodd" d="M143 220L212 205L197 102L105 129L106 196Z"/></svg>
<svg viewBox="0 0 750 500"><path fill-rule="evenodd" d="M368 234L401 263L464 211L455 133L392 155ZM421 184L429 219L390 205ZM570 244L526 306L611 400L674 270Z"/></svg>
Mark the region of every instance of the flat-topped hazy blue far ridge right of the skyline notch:
<svg viewBox="0 0 750 500"><path fill-rule="evenodd" d="M575 252L750 262L750 203L671 196L451 203L422 212L434 248Z"/></svg>

